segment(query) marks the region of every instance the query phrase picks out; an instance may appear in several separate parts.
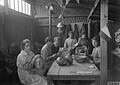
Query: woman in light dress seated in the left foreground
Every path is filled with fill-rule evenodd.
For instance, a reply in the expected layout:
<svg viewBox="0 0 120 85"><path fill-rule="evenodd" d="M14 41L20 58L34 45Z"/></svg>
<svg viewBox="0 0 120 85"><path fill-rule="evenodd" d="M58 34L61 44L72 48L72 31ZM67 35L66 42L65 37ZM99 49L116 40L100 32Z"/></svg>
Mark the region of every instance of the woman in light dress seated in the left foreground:
<svg viewBox="0 0 120 85"><path fill-rule="evenodd" d="M17 57L18 75L24 85L47 85L47 81L39 73L42 66L38 63L39 55L31 51L30 40L25 39L21 43L21 52ZM39 69L40 70L40 69Z"/></svg>

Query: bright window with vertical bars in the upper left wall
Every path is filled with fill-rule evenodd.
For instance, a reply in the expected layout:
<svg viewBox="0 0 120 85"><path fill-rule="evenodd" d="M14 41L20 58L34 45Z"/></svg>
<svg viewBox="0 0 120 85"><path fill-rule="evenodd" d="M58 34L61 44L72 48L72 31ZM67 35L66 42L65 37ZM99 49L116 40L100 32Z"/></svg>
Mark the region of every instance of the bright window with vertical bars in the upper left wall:
<svg viewBox="0 0 120 85"><path fill-rule="evenodd" d="M8 0L8 7L18 12L31 15L31 5L24 0Z"/></svg>

